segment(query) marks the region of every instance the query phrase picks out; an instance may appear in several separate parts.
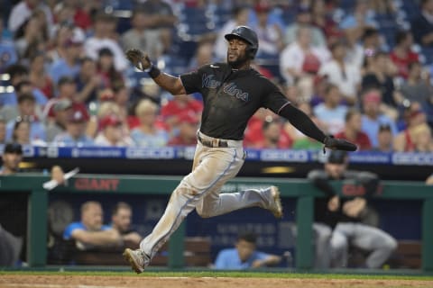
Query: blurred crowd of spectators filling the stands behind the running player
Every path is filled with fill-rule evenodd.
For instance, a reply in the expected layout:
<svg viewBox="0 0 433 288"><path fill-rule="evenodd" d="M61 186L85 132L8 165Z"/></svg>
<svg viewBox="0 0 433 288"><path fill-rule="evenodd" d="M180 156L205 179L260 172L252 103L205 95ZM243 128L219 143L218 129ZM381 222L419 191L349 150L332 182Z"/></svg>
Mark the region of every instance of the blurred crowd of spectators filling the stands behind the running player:
<svg viewBox="0 0 433 288"><path fill-rule="evenodd" d="M189 72L225 61L223 35L246 24L259 37L254 68L321 129L360 150L433 151L433 0L122 1L127 10L113 2L5 1L0 143L195 145L201 95L161 91L124 50ZM187 40L209 11L220 21ZM267 110L249 122L244 146L321 148Z"/></svg>

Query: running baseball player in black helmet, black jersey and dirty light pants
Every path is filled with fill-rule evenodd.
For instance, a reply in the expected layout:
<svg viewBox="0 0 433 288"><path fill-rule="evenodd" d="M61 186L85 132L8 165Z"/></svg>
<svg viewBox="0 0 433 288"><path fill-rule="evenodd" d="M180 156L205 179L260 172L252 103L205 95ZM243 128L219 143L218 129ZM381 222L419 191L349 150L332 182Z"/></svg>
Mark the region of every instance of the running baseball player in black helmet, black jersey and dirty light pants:
<svg viewBox="0 0 433 288"><path fill-rule="evenodd" d="M226 63L205 65L179 77L161 73L140 49L126 51L126 57L134 66L147 72L163 89L173 95L199 92L204 102L191 173L171 193L161 220L143 239L140 248L124 250L124 258L136 273L142 273L149 266L158 249L193 209L201 217L212 217L258 206L277 218L282 217L280 192L276 186L219 193L223 184L235 177L244 164L244 130L259 108L265 107L281 115L326 148L356 150L354 144L344 139L325 135L276 85L250 67L259 46L253 30L239 26L225 37L228 41Z"/></svg>

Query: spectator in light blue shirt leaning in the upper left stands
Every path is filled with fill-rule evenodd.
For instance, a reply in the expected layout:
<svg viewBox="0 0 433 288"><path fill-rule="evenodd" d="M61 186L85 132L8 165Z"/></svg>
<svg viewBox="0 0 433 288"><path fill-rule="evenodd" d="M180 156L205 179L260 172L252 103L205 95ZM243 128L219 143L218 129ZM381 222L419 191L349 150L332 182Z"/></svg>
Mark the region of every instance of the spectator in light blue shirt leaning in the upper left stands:
<svg viewBox="0 0 433 288"><path fill-rule="evenodd" d="M63 43L64 55L55 60L48 69L54 83L59 83L62 76L75 77L79 72L79 57L83 48L83 40L71 37Z"/></svg>

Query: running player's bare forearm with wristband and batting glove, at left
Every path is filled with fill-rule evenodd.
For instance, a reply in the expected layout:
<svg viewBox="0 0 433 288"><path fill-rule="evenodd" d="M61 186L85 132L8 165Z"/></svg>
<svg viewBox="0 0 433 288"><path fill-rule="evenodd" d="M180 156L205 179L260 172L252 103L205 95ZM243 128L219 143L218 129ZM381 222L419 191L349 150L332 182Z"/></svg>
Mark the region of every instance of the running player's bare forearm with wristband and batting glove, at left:
<svg viewBox="0 0 433 288"><path fill-rule="evenodd" d="M180 81L180 77L161 73L158 67L152 64L149 56L140 49L128 49L125 52L126 58L139 70L147 72L156 84L162 89L169 91L173 95L186 94L185 88Z"/></svg>

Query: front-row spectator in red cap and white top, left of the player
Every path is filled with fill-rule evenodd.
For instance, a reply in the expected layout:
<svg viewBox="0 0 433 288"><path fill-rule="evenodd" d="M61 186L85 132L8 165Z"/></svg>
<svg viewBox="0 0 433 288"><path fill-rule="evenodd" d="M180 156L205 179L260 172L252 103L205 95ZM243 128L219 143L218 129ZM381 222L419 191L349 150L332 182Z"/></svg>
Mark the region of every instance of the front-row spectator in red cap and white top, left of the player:
<svg viewBox="0 0 433 288"><path fill-rule="evenodd" d="M122 120L115 114L106 115L99 121L100 131L95 138L97 146L132 146L134 141L123 135Z"/></svg>

